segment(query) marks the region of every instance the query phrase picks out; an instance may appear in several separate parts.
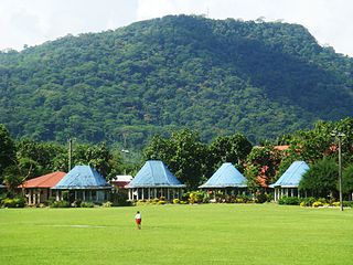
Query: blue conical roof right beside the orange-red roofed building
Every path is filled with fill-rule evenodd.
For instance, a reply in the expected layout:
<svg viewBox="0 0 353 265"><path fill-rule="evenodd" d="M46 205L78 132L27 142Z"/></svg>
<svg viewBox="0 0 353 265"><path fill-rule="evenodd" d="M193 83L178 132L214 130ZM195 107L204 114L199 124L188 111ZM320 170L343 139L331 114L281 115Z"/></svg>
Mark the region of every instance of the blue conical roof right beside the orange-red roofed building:
<svg viewBox="0 0 353 265"><path fill-rule="evenodd" d="M52 189L109 189L105 178L89 166L76 166Z"/></svg>

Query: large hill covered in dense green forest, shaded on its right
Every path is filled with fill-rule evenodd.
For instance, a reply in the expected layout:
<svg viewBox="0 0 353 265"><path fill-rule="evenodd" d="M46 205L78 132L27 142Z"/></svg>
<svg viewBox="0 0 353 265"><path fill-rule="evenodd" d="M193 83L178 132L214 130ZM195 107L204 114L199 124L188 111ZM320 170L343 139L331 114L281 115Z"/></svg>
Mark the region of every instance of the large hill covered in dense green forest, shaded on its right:
<svg viewBox="0 0 353 265"><path fill-rule="evenodd" d="M41 140L139 147L189 127L256 141L353 116L352 68L298 24L169 15L2 52L0 123Z"/></svg>

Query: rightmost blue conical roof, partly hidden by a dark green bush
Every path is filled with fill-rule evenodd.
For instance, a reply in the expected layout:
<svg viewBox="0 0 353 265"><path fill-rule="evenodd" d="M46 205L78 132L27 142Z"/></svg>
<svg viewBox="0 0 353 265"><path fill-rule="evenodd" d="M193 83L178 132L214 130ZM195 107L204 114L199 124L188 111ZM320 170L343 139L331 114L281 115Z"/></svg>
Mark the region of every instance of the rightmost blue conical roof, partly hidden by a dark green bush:
<svg viewBox="0 0 353 265"><path fill-rule="evenodd" d="M302 176L308 171L308 169L309 166L304 161L295 161L290 165L286 172L276 181L276 183L270 184L269 187L298 187Z"/></svg>

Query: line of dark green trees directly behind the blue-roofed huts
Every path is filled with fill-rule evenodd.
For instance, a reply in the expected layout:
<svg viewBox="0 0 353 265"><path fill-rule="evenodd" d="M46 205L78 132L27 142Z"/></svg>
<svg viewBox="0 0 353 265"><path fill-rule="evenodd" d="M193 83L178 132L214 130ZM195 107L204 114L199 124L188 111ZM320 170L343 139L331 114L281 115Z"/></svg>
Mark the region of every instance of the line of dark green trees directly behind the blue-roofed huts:
<svg viewBox="0 0 353 265"><path fill-rule="evenodd" d="M344 132L342 138L344 193L353 191L353 118L339 121L318 121L312 129L285 135L276 141L253 146L242 134L215 137L203 142L196 131L182 129L170 136L156 135L135 163L121 157L120 150L98 145L75 145L74 163L95 167L107 179L122 172L135 174L148 159L160 159L188 186L195 190L223 163L232 162L247 178L250 191L264 191L274 183L291 162L310 165L300 189L317 197L336 195L338 142L332 131ZM287 145L286 150L277 146ZM55 142L29 139L13 140L0 125L0 177L9 188L43 173L68 170L67 147Z"/></svg>

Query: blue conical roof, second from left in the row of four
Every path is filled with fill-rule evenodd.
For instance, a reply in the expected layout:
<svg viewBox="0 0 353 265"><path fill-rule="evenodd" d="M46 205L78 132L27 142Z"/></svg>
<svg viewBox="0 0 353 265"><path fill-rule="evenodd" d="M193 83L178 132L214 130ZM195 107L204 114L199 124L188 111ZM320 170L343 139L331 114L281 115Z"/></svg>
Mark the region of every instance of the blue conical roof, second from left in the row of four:
<svg viewBox="0 0 353 265"><path fill-rule="evenodd" d="M147 161L127 188L183 188L182 184L160 160Z"/></svg>

